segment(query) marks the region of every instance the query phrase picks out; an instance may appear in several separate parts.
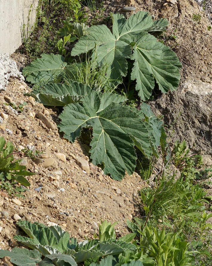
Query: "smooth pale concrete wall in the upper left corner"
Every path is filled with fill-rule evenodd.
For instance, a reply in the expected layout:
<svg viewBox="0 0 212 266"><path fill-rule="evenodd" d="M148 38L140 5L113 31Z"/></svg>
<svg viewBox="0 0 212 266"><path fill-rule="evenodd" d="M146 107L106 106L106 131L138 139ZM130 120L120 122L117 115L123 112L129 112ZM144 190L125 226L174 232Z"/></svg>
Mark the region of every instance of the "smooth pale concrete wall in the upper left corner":
<svg viewBox="0 0 212 266"><path fill-rule="evenodd" d="M35 21L38 0L0 0L0 53L12 54L22 44L23 24Z"/></svg>

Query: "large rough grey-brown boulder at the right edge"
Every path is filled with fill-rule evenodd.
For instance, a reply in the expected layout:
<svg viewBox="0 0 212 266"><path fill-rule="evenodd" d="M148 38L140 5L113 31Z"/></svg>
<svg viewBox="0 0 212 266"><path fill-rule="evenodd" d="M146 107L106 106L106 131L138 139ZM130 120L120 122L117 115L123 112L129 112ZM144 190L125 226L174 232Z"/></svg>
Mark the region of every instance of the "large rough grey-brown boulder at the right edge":
<svg viewBox="0 0 212 266"><path fill-rule="evenodd" d="M165 124L173 127L173 141L186 140L187 145L201 154L212 154L212 83L186 80L174 92L161 94L148 104L156 116L163 116ZM168 132L169 133L169 132Z"/></svg>

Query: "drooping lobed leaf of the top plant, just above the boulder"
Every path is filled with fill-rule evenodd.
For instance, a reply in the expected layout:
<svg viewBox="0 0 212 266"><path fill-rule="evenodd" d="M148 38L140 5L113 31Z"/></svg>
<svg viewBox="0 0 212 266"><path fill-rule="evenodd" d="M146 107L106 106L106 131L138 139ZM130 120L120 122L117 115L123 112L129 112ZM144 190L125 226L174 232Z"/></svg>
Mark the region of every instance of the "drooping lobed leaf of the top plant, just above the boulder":
<svg viewBox="0 0 212 266"><path fill-rule="evenodd" d="M161 92L177 89L181 64L168 46L158 42L154 36L142 32L133 48L132 59L135 62L131 79L136 79L136 90L141 100L145 101L151 96L155 81Z"/></svg>

